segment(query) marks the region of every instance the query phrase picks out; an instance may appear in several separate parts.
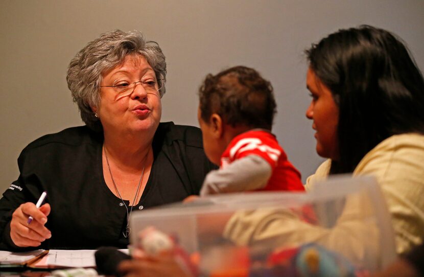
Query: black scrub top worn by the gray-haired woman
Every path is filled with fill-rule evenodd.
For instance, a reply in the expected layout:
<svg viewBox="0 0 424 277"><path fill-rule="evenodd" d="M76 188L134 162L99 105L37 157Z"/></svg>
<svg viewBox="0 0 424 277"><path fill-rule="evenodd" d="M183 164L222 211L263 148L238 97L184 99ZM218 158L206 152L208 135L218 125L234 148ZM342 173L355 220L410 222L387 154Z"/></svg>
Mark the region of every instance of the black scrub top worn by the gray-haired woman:
<svg viewBox="0 0 424 277"><path fill-rule="evenodd" d="M102 146L103 133L81 126L42 136L23 149L19 178L0 199L0 248L31 249L13 244L10 220L21 203L35 203L43 191L52 207L46 223L52 238L37 248L126 248L127 212L103 178ZM204 154L200 129L192 126L160 123L153 155L146 188L133 213L199 194L205 175L216 169Z"/></svg>

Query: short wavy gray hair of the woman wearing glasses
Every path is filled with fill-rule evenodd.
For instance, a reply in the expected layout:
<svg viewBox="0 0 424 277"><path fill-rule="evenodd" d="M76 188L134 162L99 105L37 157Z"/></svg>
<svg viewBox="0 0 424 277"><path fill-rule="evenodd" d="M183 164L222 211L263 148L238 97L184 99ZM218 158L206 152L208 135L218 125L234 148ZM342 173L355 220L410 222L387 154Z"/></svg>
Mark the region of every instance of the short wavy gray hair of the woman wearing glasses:
<svg viewBox="0 0 424 277"><path fill-rule="evenodd" d="M70 61L66 81L81 113L81 119L93 130L102 130L100 120L91 106L99 106L102 72L122 63L126 56L137 54L152 66L162 97L166 91L167 64L159 45L146 41L138 31L116 30L102 34L88 44Z"/></svg>

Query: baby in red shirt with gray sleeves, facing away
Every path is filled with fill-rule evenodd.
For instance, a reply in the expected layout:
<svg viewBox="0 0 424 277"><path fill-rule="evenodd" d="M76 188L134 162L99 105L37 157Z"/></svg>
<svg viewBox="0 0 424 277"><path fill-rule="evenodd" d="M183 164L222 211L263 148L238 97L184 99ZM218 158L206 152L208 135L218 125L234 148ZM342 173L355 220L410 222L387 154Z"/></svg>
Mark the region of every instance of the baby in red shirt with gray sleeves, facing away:
<svg viewBox="0 0 424 277"><path fill-rule="evenodd" d="M304 191L299 171L271 133L276 104L271 83L249 67L207 75L199 89L198 120L211 171L200 195Z"/></svg>

